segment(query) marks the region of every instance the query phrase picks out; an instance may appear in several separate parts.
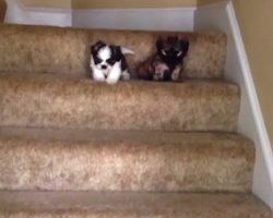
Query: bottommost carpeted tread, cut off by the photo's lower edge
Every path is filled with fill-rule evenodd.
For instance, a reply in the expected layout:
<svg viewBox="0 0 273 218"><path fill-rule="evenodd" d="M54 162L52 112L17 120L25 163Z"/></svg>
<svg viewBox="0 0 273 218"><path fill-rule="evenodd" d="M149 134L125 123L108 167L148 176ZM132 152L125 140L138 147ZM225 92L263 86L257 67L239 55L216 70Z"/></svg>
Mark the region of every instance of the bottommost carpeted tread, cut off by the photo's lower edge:
<svg viewBox="0 0 273 218"><path fill-rule="evenodd" d="M3 218L272 218L251 194L0 192Z"/></svg>

